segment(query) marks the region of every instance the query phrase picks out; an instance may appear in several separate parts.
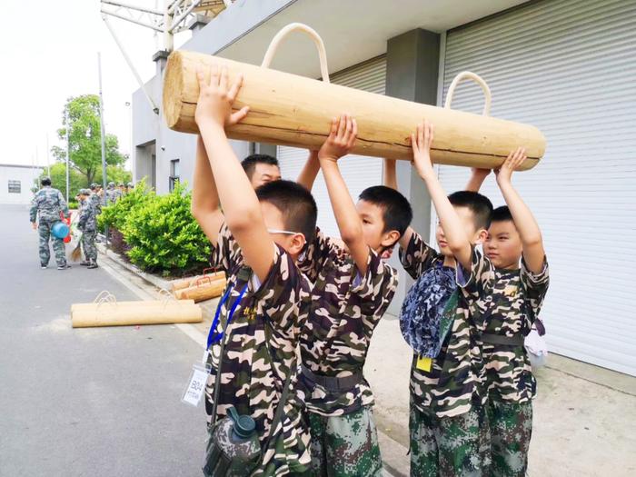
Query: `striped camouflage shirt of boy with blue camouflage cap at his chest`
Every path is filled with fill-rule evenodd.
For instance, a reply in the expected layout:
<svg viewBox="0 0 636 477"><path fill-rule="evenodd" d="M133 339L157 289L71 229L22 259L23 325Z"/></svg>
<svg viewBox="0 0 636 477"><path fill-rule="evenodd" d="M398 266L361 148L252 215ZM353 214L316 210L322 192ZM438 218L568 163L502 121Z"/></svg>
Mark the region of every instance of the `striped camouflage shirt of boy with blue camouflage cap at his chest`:
<svg viewBox="0 0 636 477"><path fill-rule="evenodd" d="M406 250L400 251L400 256L405 270L413 278L442 260L442 256L416 233L412 234ZM418 370L415 367L417 356L413 356L410 391L413 404L421 412L434 413L437 417L457 416L470 412L474 404L485 402L480 340L482 323L472 316L472 297L475 293L482 296L479 289L494 278L492 265L489 267L488 263L473 249L472 270L466 273L467 283L463 287L459 283L461 293L451 332L438 356L432 359L431 370Z"/></svg>

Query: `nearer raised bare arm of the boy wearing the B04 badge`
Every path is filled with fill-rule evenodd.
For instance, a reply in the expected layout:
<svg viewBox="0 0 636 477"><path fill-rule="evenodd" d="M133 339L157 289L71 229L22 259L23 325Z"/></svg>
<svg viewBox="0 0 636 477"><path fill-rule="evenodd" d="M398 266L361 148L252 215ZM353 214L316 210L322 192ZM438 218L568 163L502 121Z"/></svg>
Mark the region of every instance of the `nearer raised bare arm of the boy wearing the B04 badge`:
<svg viewBox="0 0 636 477"><path fill-rule="evenodd" d="M209 80L203 71L197 71L197 77L200 94L194 118L224 206L225 223L241 247L245 263L264 282L273 265L275 245L267 232L256 193L224 130L224 126L236 124L247 115L247 106L232 113L243 77L229 87L227 69L219 73L216 65L210 71Z"/></svg>

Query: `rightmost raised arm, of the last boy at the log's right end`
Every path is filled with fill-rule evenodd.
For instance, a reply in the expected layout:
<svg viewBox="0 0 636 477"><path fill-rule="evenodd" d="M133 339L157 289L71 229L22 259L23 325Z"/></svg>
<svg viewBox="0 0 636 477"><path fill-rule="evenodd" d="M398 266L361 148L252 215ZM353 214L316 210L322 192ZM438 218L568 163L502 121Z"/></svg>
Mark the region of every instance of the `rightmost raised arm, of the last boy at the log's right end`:
<svg viewBox="0 0 636 477"><path fill-rule="evenodd" d="M512 172L526 160L525 149L521 147L508 155L502 168L496 173L497 184L503 199L508 204L514 226L522 239L523 259L532 273L540 273L545 260L543 239L539 224L530 208L522 201L522 196L512 186Z"/></svg>

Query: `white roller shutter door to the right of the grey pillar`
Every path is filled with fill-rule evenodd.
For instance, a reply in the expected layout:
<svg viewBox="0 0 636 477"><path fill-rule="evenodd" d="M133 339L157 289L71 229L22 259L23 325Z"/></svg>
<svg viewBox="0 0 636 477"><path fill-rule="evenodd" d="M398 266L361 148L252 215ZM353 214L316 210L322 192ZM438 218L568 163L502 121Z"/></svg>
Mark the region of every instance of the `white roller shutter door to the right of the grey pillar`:
<svg viewBox="0 0 636 477"><path fill-rule="evenodd" d="M636 375L636 2L533 2L448 32L444 94L470 70L492 115L545 134L542 163L514 184L542 227L551 288L542 311L552 351ZM474 84L453 107L481 113ZM449 192L468 170L442 166ZM494 180L482 189L503 204Z"/></svg>

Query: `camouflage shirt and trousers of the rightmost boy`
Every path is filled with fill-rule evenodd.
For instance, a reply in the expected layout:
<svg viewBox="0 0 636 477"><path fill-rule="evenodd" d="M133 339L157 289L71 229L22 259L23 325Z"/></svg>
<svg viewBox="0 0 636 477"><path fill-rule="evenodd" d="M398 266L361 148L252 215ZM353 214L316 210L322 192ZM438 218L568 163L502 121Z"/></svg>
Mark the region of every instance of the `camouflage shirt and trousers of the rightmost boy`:
<svg viewBox="0 0 636 477"><path fill-rule="evenodd" d="M522 261L519 270L496 269L494 281L475 297L475 308L486 322L482 355L494 476L523 476L527 469L537 385L523 338L541 311L548 284L547 262L541 273L532 273Z"/></svg>

